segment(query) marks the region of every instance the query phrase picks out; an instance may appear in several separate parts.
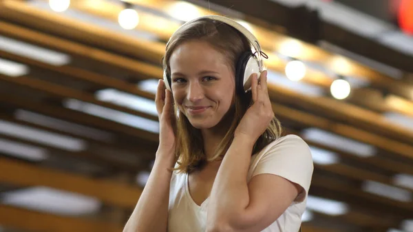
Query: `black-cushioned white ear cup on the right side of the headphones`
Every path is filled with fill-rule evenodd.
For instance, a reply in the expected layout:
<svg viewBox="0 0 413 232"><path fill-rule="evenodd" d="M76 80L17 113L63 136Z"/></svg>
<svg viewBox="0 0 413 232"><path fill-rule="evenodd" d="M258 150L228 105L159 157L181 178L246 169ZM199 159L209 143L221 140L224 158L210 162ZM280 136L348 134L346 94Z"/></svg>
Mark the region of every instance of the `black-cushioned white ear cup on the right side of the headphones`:
<svg viewBox="0 0 413 232"><path fill-rule="evenodd" d="M260 76L260 65L252 52L242 54L237 63L236 87L240 93L251 89L251 75L256 73Z"/></svg>

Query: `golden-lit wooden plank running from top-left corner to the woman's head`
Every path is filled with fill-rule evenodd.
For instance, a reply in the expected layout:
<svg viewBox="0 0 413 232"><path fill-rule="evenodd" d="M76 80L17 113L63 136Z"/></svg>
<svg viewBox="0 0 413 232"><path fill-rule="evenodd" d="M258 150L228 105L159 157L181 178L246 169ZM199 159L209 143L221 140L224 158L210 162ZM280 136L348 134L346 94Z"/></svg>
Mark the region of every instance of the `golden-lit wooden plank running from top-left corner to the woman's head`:
<svg viewBox="0 0 413 232"><path fill-rule="evenodd" d="M102 30L89 23L47 13L19 1L1 1L0 19L12 20L28 25L30 28L47 31L50 34L97 48L107 48L113 52L150 61L157 65L160 64L162 54L165 52L165 43L139 41L131 36ZM59 26L56 26L56 21L59 21Z"/></svg>

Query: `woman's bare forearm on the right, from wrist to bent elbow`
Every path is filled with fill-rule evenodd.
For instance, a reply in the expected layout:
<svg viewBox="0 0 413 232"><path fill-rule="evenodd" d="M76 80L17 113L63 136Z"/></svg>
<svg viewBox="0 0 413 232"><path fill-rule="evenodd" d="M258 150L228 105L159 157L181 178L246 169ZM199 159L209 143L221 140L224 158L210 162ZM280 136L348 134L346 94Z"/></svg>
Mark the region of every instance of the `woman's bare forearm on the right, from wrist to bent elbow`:
<svg viewBox="0 0 413 232"><path fill-rule="evenodd" d="M251 162L253 141L235 137L215 177L208 207L207 224L231 224L249 204L246 176Z"/></svg>

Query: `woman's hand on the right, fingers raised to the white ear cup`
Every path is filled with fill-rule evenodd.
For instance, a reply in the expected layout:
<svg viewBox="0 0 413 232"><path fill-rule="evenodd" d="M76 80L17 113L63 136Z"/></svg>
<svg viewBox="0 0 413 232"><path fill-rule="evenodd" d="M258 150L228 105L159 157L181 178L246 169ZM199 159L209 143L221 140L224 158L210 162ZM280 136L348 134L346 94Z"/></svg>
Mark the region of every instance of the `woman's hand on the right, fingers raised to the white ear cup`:
<svg viewBox="0 0 413 232"><path fill-rule="evenodd" d="M267 71L264 70L261 73L260 83L257 81L257 74L253 74L251 78L253 105L246 110L240 124L235 129L234 136L244 136L255 143L273 120L274 112L268 96Z"/></svg>

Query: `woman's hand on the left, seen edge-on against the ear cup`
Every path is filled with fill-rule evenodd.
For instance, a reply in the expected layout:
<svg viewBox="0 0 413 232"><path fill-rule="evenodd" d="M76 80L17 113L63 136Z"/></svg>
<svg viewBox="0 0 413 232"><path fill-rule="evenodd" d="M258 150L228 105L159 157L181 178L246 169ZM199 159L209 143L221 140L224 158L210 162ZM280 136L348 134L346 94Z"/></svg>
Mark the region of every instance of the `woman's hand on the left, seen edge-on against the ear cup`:
<svg viewBox="0 0 413 232"><path fill-rule="evenodd" d="M176 116L174 114L173 96L165 87L165 82L159 80L155 97L156 110L159 118L159 148L164 151L174 151Z"/></svg>

